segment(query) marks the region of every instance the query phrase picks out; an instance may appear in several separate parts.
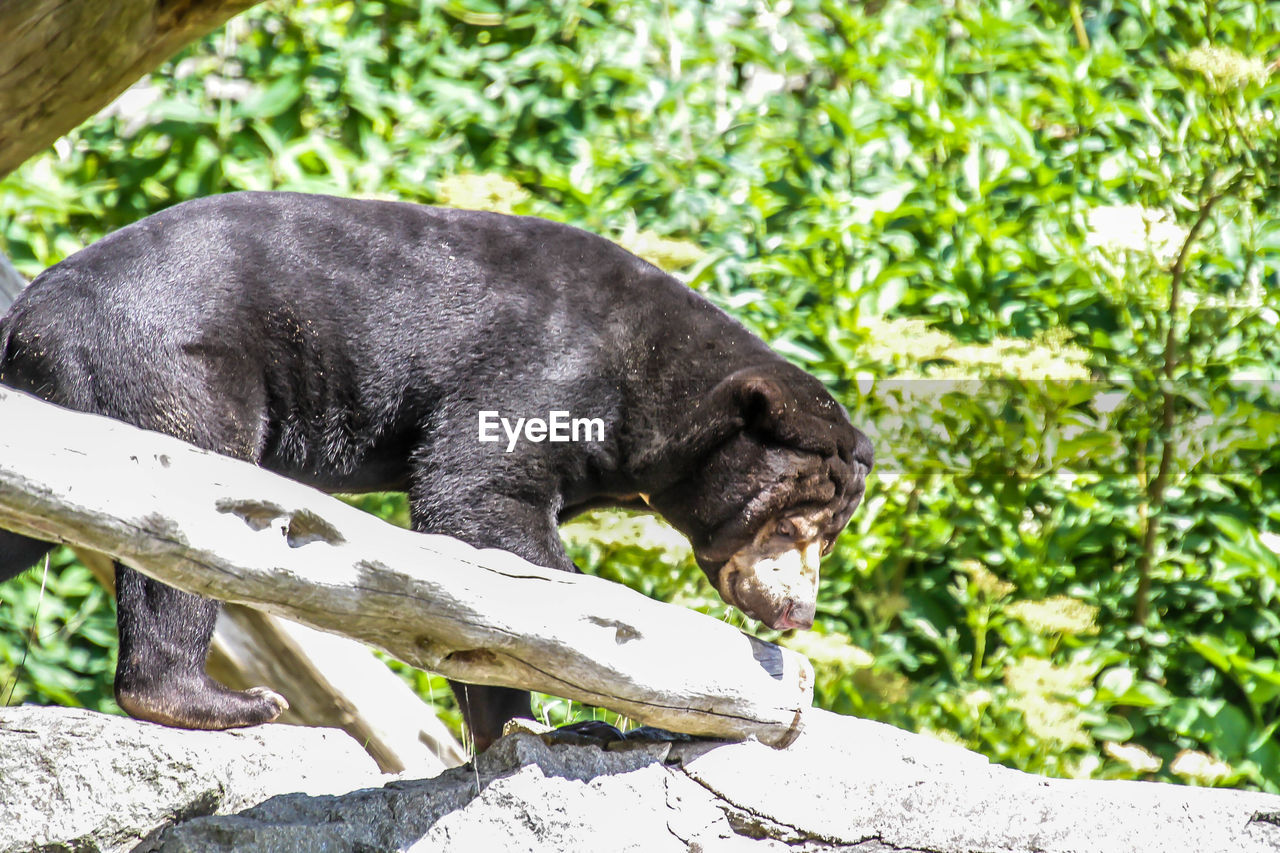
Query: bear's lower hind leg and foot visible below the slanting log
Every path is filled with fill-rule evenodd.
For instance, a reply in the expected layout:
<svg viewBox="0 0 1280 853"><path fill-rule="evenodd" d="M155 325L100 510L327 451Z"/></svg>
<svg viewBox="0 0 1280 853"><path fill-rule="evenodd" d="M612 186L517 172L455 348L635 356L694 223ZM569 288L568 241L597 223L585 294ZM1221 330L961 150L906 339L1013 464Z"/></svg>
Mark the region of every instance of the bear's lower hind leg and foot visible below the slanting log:
<svg viewBox="0 0 1280 853"><path fill-rule="evenodd" d="M179 729L233 729L270 722L289 707L268 688L232 690L205 674L218 602L120 564L115 597L115 701L129 716Z"/></svg>

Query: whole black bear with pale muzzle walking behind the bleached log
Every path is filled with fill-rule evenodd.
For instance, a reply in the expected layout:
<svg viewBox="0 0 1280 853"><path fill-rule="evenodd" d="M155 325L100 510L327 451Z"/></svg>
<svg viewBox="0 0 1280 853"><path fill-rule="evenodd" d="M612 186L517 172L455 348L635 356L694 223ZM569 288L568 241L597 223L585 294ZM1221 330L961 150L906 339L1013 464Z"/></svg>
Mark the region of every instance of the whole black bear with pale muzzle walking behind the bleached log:
<svg viewBox="0 0 1280 853"><path fill-rule="evenodd" d="M818 380L655 266L567 225L401 202L230 193L122 228L22 293L0 383L321 489L404 491L415 529L566 571L561 521L648 506L773 628L813 622L872 466ZM49 547L0 532L0 580ZM193 729L280 713L205 674L215 602L116 583L122 708ZM457 693L480 749L529 713L521 690Z"/></svg>

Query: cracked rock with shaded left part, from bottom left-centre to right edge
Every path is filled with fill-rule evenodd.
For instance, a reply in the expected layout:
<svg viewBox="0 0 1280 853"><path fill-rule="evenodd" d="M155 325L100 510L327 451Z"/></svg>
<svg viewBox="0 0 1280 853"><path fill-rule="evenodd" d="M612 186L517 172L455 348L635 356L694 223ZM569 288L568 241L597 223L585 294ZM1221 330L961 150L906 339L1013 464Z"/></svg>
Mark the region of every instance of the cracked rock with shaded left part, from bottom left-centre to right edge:
<svg viewBox="0 0 1280 853"><path fill-rule="evenodd" d="M788 749L608 751L500 740L475 767L346 797L279 797L165 831L164 853L856 850L1271 853L1280 798L1046 780L957 747L814 712Z"/></svg>

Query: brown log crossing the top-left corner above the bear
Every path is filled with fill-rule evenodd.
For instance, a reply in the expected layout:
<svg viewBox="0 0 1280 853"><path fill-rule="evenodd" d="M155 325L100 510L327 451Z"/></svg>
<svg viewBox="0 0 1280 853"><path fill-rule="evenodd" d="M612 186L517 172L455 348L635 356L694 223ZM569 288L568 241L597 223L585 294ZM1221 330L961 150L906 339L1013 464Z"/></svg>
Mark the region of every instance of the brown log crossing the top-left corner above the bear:
<svg viewBox="0 0 1280 853"><path fill-rule="evenodd" d="M255 3L0 3L0 178Z"/></svg>

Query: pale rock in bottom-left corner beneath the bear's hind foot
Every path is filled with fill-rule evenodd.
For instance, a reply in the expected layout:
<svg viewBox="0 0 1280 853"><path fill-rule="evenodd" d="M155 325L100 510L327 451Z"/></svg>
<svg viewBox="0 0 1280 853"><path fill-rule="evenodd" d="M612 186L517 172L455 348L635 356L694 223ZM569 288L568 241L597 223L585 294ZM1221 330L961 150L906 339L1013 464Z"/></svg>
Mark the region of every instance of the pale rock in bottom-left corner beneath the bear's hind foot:
<svg viewBox="0 0 1280 853"><path fill-rule="evenodd" d="M179 731L74 708L0 708L0 852L124 850L175 821L276 794L385 781L344 733Z"/></svg>

